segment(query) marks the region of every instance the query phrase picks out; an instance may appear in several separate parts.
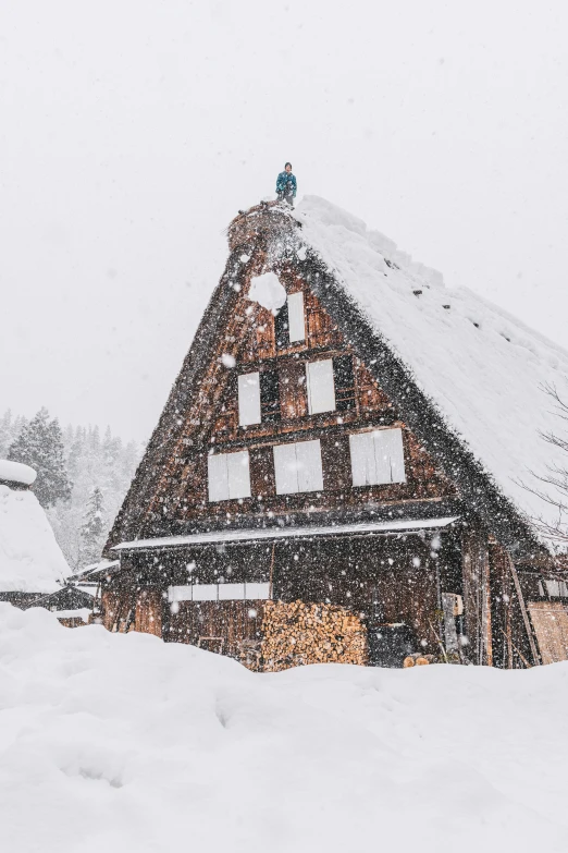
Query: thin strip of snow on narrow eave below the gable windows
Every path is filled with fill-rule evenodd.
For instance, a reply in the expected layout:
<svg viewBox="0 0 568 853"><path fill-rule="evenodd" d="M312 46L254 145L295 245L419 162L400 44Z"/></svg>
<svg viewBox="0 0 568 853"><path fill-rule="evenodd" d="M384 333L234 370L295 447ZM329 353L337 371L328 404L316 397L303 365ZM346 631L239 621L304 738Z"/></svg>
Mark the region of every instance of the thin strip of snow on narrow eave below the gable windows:
<svg viewBox="0 0 568 853"><path fill-rule="evenodd" d="M357 524L335 524L310 527L259 527L252 531L211 531L210 533L194 533L189 536L163 536L155 539L134 539L132 543L121 543L112 550L133 550L137 548L165 548L184 545L209 545L210 543L240 543L260 539L293 539L298 537L334 536L363 533L412 533L436 527L447 527L457 521L457 515L443 519L403 520L388 522L362 522Z"/></svg>

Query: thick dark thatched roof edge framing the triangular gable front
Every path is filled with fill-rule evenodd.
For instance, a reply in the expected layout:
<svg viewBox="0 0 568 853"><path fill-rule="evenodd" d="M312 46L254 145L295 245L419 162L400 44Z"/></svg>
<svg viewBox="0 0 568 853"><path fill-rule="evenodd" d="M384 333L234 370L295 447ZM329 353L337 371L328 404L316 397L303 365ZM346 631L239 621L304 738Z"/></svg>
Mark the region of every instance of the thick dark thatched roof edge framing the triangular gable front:
<svg viewBox="0 0 568 853"><path fill-rule="evenodd" d="M300 229L288 211L268 206L249 211L233 223L230 241L232 253L225 272L201 320L109 544L139 536L144 526L141 521L147 520L149 513L159 519L160 508L156 501L160 496L169 495L168 500L178 502L183 490L190 487L190 472L184 468L182 459L184 439L188 439L188 412L195 412L199 406L200 395L210 403L213 394L221 403L226 393L223 382L230 381L230 371L223 371L222 358L238 356L245 339L250 346L250 336L256 333L255 314L243 309L244 293L252 275L274 269L280 275L297 276L309 282L316 300L323 306L322 315L331 318L338 334L367 366L372 379L410 428L413 440L440 465L442 476L457 484L469 509L476 511L510 549L520 552L523 545L523 550L527 547L534 550L538 546L521 514L499 491L469 448L448 428L399 356L369 322L361 306L330 272L322 258L306 246ZM266 341L257 342L256 352L252 348L251 357L258 357L258 345ZM269 357L268 353L263 352L261 357ZM199 421L199 417L195 419ZM160 531L159 524L156 529Z"/></svg>

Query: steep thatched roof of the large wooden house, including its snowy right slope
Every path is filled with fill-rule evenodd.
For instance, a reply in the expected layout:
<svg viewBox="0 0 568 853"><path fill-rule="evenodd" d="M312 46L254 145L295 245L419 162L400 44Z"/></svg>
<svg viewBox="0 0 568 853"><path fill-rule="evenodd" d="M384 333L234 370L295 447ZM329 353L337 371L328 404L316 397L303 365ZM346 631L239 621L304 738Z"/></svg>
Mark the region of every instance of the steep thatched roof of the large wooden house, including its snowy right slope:
<svg viewBox="0 0 568 853"><path fill-rule="evenodd" d="M152 483L180 437L180 413L199 387L238 289L246 292L247 260L261 251L266 267L292 266L309 282L469 510L519 558L542 555L530 516L546 508L519 480L548 462L540 430L554 424L541 386L566 381L561 348L469 291L445 289L439 275L323 199L307 198L297 211L251 208L230 226L229 242L225 271L109 546L140 534Z"/></svg>

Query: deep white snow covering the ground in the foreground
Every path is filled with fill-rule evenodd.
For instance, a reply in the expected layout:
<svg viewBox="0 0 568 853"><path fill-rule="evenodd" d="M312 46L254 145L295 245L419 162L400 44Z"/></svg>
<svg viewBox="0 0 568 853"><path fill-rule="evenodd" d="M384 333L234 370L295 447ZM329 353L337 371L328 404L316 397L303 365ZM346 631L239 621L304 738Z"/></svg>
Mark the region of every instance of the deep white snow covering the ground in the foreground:
<svg viewBox="0 0 568 853"><path fill-rule="evenodd" d="M566 851L568 663L258 675L0 605L10 853Z"/></svg>

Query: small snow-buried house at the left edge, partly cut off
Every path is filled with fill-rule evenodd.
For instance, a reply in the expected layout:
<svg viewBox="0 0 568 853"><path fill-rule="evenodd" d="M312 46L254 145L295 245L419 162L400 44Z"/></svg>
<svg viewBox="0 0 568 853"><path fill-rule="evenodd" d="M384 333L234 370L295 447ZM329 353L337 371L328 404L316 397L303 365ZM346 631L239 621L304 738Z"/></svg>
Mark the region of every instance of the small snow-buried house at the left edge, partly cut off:
<svg viewBox="0 0 568 853"><path fill-rule="evenodd" d="M36 496L36 472L0 460L0 601L28 607L58 593L70 570Z"/></svg>

